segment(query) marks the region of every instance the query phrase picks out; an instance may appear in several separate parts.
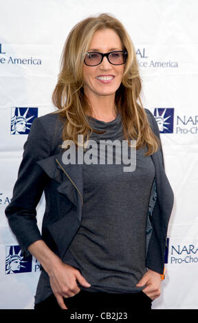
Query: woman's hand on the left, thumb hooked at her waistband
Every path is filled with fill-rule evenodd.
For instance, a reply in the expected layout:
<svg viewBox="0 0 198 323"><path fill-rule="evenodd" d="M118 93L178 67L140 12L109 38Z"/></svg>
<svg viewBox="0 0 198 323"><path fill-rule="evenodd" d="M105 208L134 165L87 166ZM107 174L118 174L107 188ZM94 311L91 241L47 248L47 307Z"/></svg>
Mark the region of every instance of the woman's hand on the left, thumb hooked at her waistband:
<svg viewBox="0 0 198 323"><path fill-rule="evenodd" d="M52 268L49 276L52 291L61 309L67 309L63 297L68 298L79 293L80 288L78 287L76 280L78 280L83 287L91 286L91 284L89 284L80 274L78 269L63 263L62 261L60 261L56 268Z"/></svg>

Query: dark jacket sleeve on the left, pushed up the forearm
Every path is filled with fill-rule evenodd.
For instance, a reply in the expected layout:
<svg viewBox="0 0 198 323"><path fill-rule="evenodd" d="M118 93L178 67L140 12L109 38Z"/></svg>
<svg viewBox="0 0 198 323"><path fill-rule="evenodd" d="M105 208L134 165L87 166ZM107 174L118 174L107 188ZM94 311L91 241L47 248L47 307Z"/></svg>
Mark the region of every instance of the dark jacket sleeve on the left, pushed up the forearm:
<svg viewBox="0 0 198 323"><path fill-rule="evenodd" d="M5 215L17 237L23 256L30 254L29 245L42 239L36 225L36 205L41 199L48 177L36 161L50 156L50 139L41 118L35 118L32 122L30 133L23 145L23 158L12 199L5 208Z"/></svg>

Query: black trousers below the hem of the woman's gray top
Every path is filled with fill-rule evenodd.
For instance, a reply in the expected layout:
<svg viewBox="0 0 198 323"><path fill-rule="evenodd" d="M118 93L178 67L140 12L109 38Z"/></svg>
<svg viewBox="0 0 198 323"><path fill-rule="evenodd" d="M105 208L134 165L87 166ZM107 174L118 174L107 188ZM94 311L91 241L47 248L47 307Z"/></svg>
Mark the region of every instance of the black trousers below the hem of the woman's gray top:
<svg viewBox="0 0 198 323"><path fill-rule="evenodd" d="M138 293L103 293L80 290L75 296L63 298L68 310L78 312L114 311L131 313L132 311L151 310L152 300L143 291ZM61 310L54 294L34 305L35 310Z"/></svg>

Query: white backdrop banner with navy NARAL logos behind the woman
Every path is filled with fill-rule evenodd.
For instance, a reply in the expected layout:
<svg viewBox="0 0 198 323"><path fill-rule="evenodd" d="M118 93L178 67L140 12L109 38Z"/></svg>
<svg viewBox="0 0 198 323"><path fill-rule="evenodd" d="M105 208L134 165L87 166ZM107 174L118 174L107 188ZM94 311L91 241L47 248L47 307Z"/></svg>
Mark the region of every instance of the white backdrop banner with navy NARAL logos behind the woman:
<svg viewBox="0 0 198 323"><path fill-rule="evenodd" d="M129 32L140 66L142 101L159 126L175 194L166 279L153 309L198 309L198 44L196 0L0 1L0 309L33 309L40 264L24 258L5 207L34 118L56 110L61 52L72 27L107 12ZM41 230L45 197L36 208Z"/></svg>

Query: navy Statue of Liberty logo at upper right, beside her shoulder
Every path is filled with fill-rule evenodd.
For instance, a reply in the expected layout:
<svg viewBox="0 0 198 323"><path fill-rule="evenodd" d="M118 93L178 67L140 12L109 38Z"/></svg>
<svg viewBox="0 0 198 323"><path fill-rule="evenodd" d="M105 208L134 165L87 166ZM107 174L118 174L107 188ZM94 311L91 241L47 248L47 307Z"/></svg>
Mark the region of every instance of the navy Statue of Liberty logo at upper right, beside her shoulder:
<svg viewBox="0 0 198 323"><path fill-rule="evenodd" d="M160 133L173 133L174 108L155 108L154 116Z"/></svg>

